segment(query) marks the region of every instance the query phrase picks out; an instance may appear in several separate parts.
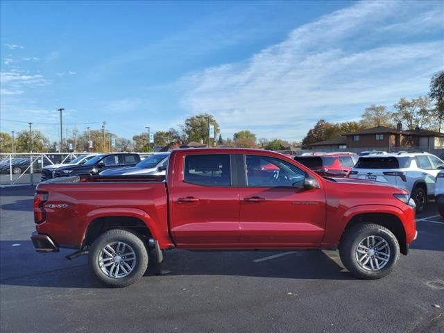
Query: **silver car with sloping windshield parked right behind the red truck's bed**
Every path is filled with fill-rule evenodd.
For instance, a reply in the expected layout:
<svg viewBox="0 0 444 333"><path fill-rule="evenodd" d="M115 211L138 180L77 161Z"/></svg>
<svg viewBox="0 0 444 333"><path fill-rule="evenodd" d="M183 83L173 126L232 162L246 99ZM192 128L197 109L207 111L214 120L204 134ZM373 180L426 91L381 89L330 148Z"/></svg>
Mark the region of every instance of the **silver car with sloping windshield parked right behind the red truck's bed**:
<svg viewBox="0 0 444 333"><path fill-rule="evenodd" d="M130 176L130 175L152 175L164 176L167 169L169 153L154 153L140 161L135 167L124 167L105 170L100 176Z"/></svg>

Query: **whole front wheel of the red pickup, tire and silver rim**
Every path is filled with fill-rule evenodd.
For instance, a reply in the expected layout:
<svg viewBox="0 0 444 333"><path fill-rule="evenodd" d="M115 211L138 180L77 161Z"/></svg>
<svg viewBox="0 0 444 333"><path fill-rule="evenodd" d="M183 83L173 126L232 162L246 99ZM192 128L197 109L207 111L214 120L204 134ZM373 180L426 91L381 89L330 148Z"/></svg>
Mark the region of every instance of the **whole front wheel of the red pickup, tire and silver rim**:
<svg viewBox="0 0 444 333"><path fill-rule="evenodd" d="M341 261L357 278L384 278L400 257L395 235L382 225L363 223L347 230L339 244Z"/></svg>

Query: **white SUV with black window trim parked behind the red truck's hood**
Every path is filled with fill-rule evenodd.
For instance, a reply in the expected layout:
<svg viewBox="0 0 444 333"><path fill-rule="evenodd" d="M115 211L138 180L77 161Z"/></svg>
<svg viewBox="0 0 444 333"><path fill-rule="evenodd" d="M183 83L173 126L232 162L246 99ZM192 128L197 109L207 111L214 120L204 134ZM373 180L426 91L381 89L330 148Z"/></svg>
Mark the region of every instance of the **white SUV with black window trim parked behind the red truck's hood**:
<svg viewBox="0 0 444 333"><path fill-rule="evenodd" d="M350 178L389 182L411 193L416 212L422 212L427 198L435 194L435 180L444 162L429 153L370 155L359 157Z"/></svg>

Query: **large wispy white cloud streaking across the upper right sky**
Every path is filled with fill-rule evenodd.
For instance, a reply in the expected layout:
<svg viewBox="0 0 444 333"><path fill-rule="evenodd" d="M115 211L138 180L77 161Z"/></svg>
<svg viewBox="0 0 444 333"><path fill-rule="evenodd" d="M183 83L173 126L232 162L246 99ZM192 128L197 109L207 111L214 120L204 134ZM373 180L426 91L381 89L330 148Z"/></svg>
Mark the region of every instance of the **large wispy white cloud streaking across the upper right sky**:
<svg viewBox="0 0 444 333"><path fill-rule="evenodd" d="M418 19L394 28L406 6L357 3L296 28L245 62L190 74L180 80L182 104L191 113L214 114L225 136L247 128L259 137L300 139L321 117L355 118L362 105L393 105L401 96L422 94L443 67L444 43L402 37L419 26L423 31L423 22L442 28L436 17L443 12L427 7L421 14L413 6Z"/></svg>

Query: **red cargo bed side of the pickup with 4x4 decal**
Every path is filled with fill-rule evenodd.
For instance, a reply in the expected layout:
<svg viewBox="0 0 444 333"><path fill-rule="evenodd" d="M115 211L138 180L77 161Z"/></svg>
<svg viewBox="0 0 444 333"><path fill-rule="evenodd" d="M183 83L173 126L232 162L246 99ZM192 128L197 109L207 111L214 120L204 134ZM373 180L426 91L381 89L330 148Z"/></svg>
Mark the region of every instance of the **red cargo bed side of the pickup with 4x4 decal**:
<svg viewBox="0 0 444 333"><path fill-rule="evenodd" d="M37 232L51 234L60 247L80 248L88 226L110 212L153 228L159 244L169 246L167 187L163 176L64 177L37 186L49 194L43 204L46 221ZM114 217L117 222L119 216ZM105 223L113 223L106 220ZM155 225L153 225L155 223ZM84 244L85 245L85 244Z"/></svg>

